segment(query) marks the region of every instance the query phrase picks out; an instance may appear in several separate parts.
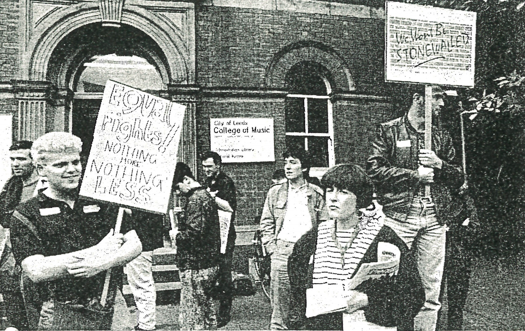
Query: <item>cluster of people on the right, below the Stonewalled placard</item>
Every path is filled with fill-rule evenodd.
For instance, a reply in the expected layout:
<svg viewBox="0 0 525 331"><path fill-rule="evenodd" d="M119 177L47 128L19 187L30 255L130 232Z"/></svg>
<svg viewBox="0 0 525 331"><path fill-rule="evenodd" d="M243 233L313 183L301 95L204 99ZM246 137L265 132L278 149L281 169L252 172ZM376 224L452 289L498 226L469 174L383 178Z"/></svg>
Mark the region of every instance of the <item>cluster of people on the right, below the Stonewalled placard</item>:
<svg viewBox="0 0 525 331"><path fill-rule="evenodd" d="M431 103L438 115L441 88ZM425 147L421 89L403 116L377 126L366 170L336 165L319 187L308 180L308 155L283 154L286 180L270 188L260 220L271 259L270 329L435 330L445 263L447 328L461 329L470 275L461 233L476 212L448 133L433 127ZM398 269L379 279L359 272L379 262L385 243L399 250ZM309 291L329 289L343 293L346 307L305 314L319 302Z"/></svg>

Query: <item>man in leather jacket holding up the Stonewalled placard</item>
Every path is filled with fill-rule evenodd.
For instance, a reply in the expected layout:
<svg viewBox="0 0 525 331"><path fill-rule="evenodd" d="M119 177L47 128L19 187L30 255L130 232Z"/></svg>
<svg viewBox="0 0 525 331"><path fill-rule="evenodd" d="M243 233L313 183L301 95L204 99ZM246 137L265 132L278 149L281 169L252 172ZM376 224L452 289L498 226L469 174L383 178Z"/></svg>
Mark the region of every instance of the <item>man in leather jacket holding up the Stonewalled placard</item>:
<svg viewBox="0 0 525 331"><path fill-rule="evenodd" d="M444 106L444 91L433 87L432 110ZM425 93L412 94L412 104L401 118L377 126L367 161L377 198L391 227L415 250L425 287L426 301L414 318L416 330L435 330L440 308L439 290L445 262L445 219L450 190L463 184L453 162L455 150L449 134L432 128L432 149L425 149ZM425 186L430 186L430 196Z"/></svg>

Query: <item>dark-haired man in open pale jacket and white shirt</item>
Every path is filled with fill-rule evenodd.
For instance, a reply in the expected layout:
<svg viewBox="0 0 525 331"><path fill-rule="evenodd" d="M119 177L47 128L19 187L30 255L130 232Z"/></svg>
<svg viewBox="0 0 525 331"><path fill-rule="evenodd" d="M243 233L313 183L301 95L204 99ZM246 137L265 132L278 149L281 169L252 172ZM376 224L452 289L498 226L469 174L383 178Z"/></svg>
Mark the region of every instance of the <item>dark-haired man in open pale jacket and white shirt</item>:
<svg viewBox="0 0 525 331"><path fill-rule="evenodd" d="M261 240L270 254L270 329L297 329L303 324L302 301L292 295L288 258L301 236L328 218L322 190L306 181L308 152L298 148L282 154L286 181L268 191L260 220Z"/></svg>

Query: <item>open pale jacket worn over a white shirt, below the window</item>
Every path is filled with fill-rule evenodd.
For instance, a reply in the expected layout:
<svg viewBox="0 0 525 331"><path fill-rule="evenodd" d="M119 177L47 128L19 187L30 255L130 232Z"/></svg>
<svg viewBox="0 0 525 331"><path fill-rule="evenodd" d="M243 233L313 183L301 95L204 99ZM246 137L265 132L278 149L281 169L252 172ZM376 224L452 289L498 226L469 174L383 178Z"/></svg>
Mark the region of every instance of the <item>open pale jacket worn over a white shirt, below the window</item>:
<svg viewBox="0 0 525 331"><path fill-rule="evenodd" d="M328 219L328 211L325 207L323 191L318 186L307 183L308 211L312 221L312 227L317 223ZM260 229L262 233L262 244L266 251L272 254L277 247L277 236L282 228L282 222L286 215L286 201L288 199L288 181L275 184L268 191L264 208L262 208Z"/></svg>

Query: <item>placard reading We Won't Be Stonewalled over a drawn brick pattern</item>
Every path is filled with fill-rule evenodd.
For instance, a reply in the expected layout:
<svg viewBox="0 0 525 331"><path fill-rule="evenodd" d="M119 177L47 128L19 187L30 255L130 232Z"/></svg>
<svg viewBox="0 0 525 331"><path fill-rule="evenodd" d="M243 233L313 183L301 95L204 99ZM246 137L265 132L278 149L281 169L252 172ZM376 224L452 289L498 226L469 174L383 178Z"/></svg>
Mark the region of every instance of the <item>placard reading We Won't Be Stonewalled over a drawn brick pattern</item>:
<svg viewBox="0 0 525 331"><path fill-rule="evenodd" d="M385 80L474 86L476 13L386 2Z"/></svg>

